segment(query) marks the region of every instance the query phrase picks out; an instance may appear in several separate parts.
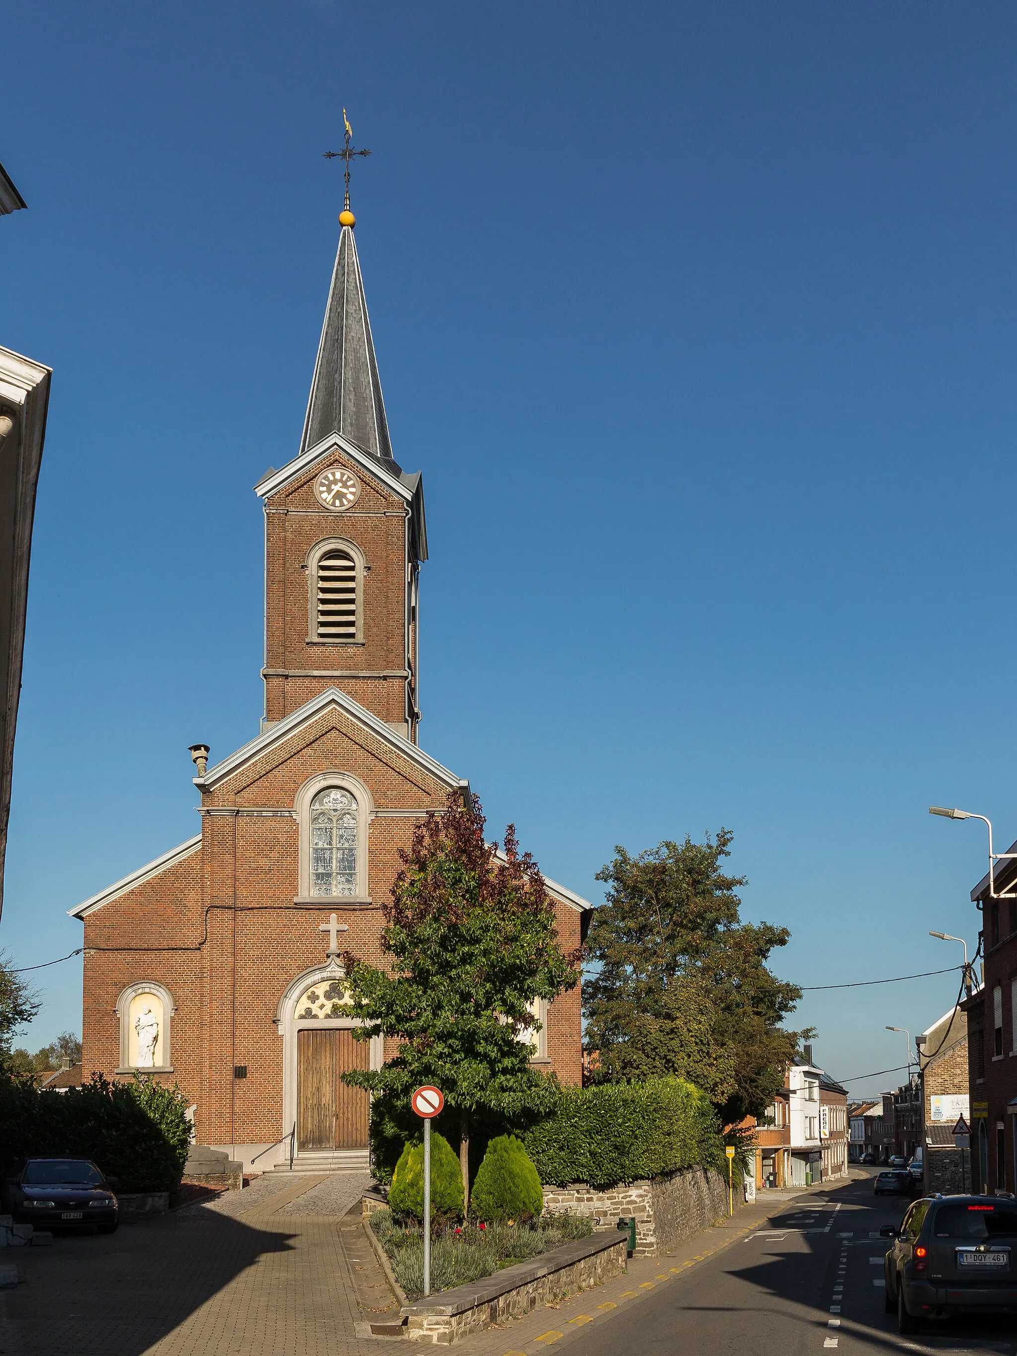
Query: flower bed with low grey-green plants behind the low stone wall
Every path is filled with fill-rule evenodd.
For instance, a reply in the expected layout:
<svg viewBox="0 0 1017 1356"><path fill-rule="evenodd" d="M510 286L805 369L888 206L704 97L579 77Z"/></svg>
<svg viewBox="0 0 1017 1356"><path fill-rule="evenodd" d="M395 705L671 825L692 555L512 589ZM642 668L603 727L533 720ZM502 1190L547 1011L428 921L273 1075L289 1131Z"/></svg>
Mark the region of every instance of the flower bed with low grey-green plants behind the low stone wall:
<svg viewBox="0 0 1017 1356"><path fill-rule="evenodd" d="M376 1210L370 1227L408 1296L423 1294L423 1230ZM532 1224L475 1224L446 1229L431 1239L431 1291L453 1290L494 1276L503 1267L540 1257L572 1238L587 1238L593 1222L545 1214Z"/></svg>

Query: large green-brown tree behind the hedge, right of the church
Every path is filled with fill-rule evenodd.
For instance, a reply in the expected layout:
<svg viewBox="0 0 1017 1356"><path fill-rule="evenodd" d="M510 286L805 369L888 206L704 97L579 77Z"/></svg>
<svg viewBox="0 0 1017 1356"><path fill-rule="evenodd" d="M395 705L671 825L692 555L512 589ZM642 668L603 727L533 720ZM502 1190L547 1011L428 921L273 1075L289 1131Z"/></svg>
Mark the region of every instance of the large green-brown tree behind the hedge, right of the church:
<svg viewBox="0 0 1017 1356"><path fill-rule="evenodd" d="M607 902L594 914L584 984L593 1077L614 1082L677 1074L702 1088L727 1123L762 1113L784 1083L804 1032L785 1031L801 990L766 967L786 928L746 923L728 876L732 834L616 848L598 872Z"/></svg>

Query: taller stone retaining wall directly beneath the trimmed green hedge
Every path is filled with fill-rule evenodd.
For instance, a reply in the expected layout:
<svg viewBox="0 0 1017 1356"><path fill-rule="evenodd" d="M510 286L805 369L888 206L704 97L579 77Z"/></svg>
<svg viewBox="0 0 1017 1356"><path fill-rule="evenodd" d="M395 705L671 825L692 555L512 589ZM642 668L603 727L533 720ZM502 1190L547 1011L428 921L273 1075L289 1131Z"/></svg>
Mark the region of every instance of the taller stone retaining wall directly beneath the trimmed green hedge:
<svg viewBox="0 0 1017 1356"><path fill-rule="evenodd" d="M735 1208L743 1204L735 1192ZM636 1218L636 1253L652 1256L709 1229L727 1215L727 1182L720 1173L686 1168L652 1181L640 1180L610 1191L586 1182L545 1186L544 1208L591 1218L598 1233L617 1229L620 1219Z"/></svg>

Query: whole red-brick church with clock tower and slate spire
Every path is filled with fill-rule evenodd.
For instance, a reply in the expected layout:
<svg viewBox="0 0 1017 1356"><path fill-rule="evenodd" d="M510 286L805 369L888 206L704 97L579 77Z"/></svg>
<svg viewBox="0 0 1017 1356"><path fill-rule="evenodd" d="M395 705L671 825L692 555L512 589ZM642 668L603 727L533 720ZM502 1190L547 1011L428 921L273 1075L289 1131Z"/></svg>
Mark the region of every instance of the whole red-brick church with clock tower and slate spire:
<svg viewBox="0 0 1017 1356"><path fill-rule="evenodd" d="M469 784L418 740L423 485L393 458L348 213L298 454L255 487L266 532L264 720L206 766L201 833L72 914L84 923L83 1064L178 1082L198 1143L247 1166L366 1162L378 1067L353 1041L340 952L382 964L380 903L415 824ZM590 904L548 881L560 944ZM534 1001L533 1062L582 1078L579 990ZM281 1143L279 1143L281 1142Z"/></svg>

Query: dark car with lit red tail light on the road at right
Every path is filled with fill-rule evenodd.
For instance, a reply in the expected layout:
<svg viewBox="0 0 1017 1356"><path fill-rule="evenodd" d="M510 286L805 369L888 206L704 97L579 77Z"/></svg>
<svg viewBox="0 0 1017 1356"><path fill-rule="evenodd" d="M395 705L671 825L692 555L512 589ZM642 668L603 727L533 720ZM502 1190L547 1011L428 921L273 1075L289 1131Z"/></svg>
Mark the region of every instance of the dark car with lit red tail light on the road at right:
<svg viewBox="0 0 1017 1356"><path fill-rule="evenodd" d="M1017 1201L997 1196L917 1200L880 1229L887 1311L902 1333L951 1314L1017 1314Z"/></svg>

